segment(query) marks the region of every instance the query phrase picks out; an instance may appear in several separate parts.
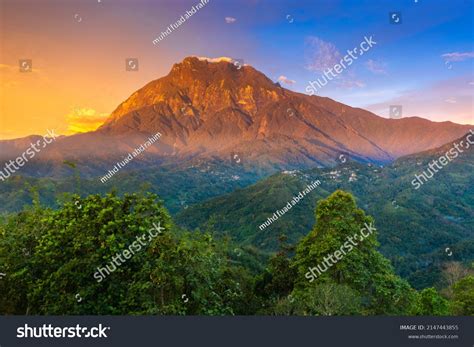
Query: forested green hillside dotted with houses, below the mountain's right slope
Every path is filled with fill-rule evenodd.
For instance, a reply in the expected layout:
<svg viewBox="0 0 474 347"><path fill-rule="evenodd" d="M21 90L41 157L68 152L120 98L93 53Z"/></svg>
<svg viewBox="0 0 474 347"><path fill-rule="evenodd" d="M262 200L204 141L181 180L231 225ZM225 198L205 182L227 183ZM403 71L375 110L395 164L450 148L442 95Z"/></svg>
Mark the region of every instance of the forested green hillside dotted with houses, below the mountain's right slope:
<svg viewBox="0 0 474 347"><path fill-rule="evenodd" d="M191 206L175 219L191 229L212 224L218 233L242 245L274 251L281 234L292 243L306 235L317 223L317 201L342 189L351 192L358 205L375 218L380 251L392 260L399 274L423 288L439 283L445 262L474 260L473 146L464 148L419 189L411 183L415 175L427 172L433 160L461 141L467 142L462 137L386 167L346 162L335 168L282 172ZM317 188L278 220L260 227L315 180L321 182Z"/></svg>

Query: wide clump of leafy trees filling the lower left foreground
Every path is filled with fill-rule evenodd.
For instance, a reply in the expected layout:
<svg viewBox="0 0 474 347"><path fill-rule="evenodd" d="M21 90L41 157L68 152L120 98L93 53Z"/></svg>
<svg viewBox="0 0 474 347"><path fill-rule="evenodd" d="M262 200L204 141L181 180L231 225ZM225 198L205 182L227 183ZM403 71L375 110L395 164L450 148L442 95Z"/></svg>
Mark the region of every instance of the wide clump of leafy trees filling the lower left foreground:
<svg viewBox="0 0 474 347"><path fill-rule="evenodd" d="M230 271L220 246L209 234L177 232L152 194L73 196L58 210L35 205L0 226L0 271L7 273L0 309L233 314L231 305L242 305L252 285L238 282L250 276Z"/></svg>

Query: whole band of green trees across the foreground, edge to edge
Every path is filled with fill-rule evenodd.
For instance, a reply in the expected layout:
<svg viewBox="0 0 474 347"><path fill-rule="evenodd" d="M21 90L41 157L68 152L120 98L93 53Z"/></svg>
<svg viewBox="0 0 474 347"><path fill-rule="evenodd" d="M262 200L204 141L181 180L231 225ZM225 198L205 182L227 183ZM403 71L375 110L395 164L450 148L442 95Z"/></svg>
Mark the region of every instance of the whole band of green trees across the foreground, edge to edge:
<svg viewBox="0 0 474 347"><path fill-rule="evenodd" d="M474 314L474 277L462 265L446 268L450 301L434 288L416 292L377 250L376 231L310 281L308 269L374 225L342 191L318 203L296 248L281 236L268 260L219 238L212 223L179 229L153 194L71 195L55 210L33 195L31 207L0 220L2 314Z"/></svg>

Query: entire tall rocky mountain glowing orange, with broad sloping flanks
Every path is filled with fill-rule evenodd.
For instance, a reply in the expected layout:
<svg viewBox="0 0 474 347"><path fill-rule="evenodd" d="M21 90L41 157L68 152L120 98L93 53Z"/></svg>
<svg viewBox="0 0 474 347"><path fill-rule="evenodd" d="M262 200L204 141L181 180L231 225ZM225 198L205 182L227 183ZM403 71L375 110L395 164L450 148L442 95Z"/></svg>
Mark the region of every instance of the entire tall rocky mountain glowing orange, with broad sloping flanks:
<svg viewBox="0 0 474 347"><path fill-rule="evenodd" d="M134 161L189 158L270 168L334 165L341 154L387 163L458 138L468 125L412 117L385 119L325 97L292 92L251 66L229 59L188 57L171 72L134 92L96 131L62 137L42 150L48 174L73 160L100 174L157 132L160 140ZM0 141L0 159L21 153L19 142ZM23 146L24 147L24 146ZM26 170L28 171L28 169ZM44 172L44 171L41 171ZM29 174L38 170L30 170Z"/></svg>

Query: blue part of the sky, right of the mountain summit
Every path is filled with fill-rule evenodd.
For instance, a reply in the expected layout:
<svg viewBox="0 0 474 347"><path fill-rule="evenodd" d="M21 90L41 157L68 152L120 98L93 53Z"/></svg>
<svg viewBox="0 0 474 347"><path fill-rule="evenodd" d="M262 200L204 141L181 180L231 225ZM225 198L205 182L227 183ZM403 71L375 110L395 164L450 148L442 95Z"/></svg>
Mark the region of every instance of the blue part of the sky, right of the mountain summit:
<svg viewBox="0 0 474 347"><path fill-rule="evenodd" d="M231 25L257 41L245 55L252 65L274 80L283 75L295 81L285 87L305 92L308 81L321 76L307 68L308 51L318 49L305 45L309 37L343 56L373 36L377 45L340 74L344 83L329 82L319 95L384 116L390 104L401 104L406 116L474 123L472 1L276 3L272 9L254 4L261 16L241 9ZM390 24L389 12L399 12L401 24Z"/></svg>

